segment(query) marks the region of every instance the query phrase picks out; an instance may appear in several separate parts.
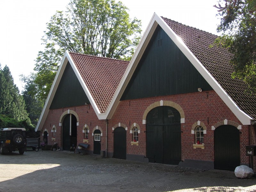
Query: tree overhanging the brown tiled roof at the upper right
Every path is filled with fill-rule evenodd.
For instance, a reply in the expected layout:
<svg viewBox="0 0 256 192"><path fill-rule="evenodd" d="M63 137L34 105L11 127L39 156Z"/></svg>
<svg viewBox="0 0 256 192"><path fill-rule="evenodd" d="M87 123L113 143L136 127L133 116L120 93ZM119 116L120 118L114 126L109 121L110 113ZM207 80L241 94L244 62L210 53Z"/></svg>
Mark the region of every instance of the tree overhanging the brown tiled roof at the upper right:
<svg viewBox="0 0 256 192"><path fill-rule="evenodd" d="M232 53L233 76L243 79L256 93L256 1L220 0L216 6L221 18L218 31L223 32L215 43Z"/></svg>

